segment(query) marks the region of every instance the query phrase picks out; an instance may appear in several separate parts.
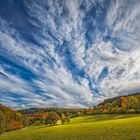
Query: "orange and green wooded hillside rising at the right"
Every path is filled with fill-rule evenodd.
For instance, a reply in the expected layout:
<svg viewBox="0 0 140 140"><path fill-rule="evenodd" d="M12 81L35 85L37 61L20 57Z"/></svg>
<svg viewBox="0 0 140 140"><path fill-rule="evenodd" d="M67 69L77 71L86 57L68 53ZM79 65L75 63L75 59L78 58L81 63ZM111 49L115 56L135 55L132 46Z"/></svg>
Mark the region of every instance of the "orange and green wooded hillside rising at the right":
<svg viewBox="0 0 140 140"><path fill-rule="evenodd" d="M86 115L102 113L140 113L140 94L110 98L85 110Z"/></svg>

